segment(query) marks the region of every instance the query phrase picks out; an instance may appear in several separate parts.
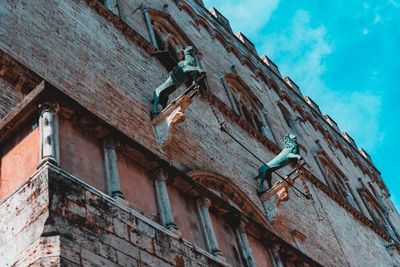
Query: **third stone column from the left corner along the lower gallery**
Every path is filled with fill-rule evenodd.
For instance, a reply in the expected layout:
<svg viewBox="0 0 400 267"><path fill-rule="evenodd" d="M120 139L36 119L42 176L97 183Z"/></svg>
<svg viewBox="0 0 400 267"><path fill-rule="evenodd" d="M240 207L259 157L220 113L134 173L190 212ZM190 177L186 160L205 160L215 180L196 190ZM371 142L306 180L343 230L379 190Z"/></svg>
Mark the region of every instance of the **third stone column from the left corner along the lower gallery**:
<svg viewBox="0 0 400 267"><path fill-rule="evenodd" d="M167 174L162 169L158 169L154 174L158 212L160 213L161 224L168 230L177 231L168 197L167 178Z"/></svg>

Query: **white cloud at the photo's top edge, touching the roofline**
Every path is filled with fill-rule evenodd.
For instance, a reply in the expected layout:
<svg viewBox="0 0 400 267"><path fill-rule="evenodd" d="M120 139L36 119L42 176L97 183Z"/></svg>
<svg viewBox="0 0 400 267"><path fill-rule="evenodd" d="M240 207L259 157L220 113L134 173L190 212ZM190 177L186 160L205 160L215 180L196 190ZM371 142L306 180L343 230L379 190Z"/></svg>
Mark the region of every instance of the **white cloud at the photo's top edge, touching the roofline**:
<svg viewBox="0 0 400 267"><path fill-rule="evenodd" d="M234 32L246 36L257 34L268 23L271 14L278 8L280 0L205 0L207 7L215 6L229 19Z"/></svg>

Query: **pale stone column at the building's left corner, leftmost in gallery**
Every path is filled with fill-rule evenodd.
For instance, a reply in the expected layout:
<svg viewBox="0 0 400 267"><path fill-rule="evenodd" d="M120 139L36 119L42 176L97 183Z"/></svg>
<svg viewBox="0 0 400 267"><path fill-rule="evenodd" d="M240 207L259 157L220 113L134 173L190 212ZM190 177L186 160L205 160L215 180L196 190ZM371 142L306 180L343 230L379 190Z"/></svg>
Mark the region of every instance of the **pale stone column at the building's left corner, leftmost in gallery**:
<svg viewBox="0 0 400 267"><path fill-rule="evenodd" d="M40 165L46 161L59 165L58 104L45 102L39 105Z"/></svg>

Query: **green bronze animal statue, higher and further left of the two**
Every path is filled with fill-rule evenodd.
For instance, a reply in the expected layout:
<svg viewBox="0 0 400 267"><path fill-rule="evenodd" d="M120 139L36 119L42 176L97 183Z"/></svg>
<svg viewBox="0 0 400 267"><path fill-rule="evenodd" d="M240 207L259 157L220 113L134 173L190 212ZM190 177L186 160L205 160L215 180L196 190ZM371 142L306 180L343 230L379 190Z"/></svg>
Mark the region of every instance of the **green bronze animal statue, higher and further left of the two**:
<svg viewBox="0 0 400 267"><path fill-rule="evenodd" d="M168 79L153 92L152 116L158 115L168 103L168 97L185 82L196 82L197 77L205 71L199 66L192 46L183 50L184 59L172 70Z"/></svg>

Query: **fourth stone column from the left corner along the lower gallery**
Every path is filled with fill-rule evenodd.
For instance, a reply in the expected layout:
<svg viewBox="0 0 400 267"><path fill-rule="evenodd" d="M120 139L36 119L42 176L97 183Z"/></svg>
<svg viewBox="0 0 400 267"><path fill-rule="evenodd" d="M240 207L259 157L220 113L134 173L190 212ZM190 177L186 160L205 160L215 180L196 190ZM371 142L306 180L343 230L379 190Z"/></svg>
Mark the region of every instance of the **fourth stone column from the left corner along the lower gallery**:
<svg viewBox="0 0 400 267"><path fill-rule="evenodd" d="M214 228L211 222L209 207L211 205L210 199L201 197L197 200L197 208L199 211L201 227L204 234L204 239L208 251L215 256L222 256L221 250L218 247L217 237L215 236Z"/></svg>

